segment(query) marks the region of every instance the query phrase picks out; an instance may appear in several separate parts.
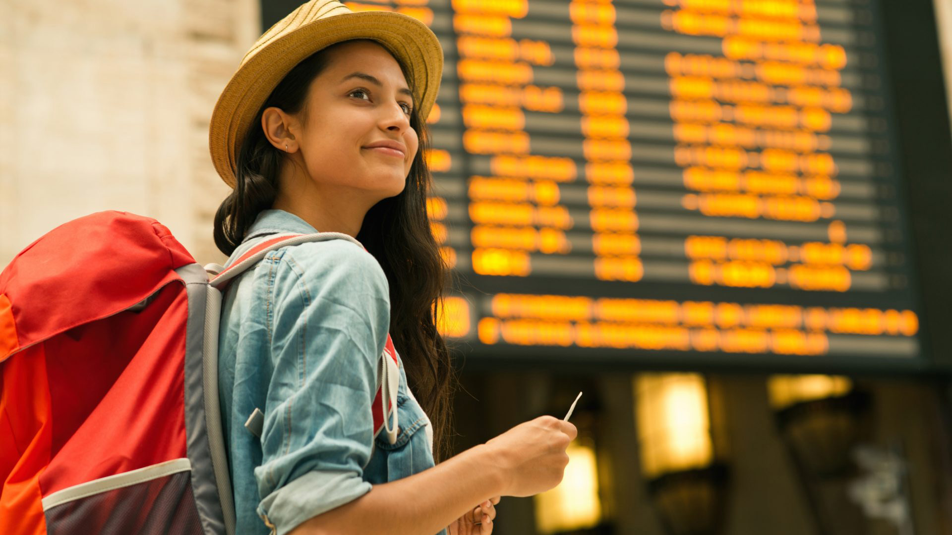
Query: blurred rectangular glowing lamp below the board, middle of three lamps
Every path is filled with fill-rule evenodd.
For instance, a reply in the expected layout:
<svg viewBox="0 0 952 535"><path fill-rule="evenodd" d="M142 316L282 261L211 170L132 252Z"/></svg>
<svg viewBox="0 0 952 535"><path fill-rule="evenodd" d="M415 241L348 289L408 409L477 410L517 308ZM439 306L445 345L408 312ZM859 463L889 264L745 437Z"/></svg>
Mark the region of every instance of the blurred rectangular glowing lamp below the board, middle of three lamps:
<svg viewBox="0 0 952 535"><path fill-rule="evenodd" d="M704 377L643 373L635 376L633 386L645 477L709 466L714 447Z"/></svg>

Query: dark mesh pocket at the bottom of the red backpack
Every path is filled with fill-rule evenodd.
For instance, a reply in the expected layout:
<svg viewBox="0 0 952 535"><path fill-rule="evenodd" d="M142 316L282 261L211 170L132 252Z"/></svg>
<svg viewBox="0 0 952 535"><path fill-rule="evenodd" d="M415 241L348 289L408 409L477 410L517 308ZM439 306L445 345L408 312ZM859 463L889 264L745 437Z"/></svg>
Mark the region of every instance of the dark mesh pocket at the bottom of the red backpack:
<svg viewBox="0 0 952 535"><path fill-rule="evenodd" d="M202 533L188 471L98 492L45 513L50 535Z"/></svg>

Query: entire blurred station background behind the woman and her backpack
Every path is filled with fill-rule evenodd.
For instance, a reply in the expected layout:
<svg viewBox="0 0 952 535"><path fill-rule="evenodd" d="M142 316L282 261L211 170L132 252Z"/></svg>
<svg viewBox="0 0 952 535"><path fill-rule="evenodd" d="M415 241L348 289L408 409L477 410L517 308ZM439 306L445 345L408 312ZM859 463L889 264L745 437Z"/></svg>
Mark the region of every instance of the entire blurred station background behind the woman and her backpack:
<svg viewBox="0 0 952 535"><path fill-rule="evenodd" d="M0 2L0 266L103 209L223 261L208 119L298 5ZM456 451L584 392L494 533L952 533L952 3L347 5L446 54Z"/></svg>

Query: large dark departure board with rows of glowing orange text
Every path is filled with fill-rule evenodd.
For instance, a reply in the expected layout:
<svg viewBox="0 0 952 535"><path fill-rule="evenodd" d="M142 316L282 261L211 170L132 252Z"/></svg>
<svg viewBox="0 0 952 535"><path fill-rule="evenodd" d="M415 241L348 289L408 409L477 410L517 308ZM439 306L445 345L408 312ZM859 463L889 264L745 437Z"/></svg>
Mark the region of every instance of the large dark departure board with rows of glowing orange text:
<svg viewBox="0 0 952 535"><path fill-rule="evenodd" d="M473 355L921 355L876 2L346 4L443 45L428 213Z"/></svg>

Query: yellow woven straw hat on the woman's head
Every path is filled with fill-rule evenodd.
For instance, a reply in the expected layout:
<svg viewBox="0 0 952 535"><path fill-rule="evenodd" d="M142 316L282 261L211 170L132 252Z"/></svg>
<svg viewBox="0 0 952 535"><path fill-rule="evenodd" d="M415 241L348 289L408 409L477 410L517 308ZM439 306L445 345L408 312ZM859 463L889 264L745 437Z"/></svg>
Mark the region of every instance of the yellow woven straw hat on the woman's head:
<svg viewBox="0 0 952 535"><path fill-rule="evenodd" d="M348 39L373 39L407 68L414 103L426 119L443 75L443 49L433 31L402 13L354 12L337 0L310 0L258 39L218 97L208 149L228 186L235 187L238 150L271 90L310 54Z"/></svg>

